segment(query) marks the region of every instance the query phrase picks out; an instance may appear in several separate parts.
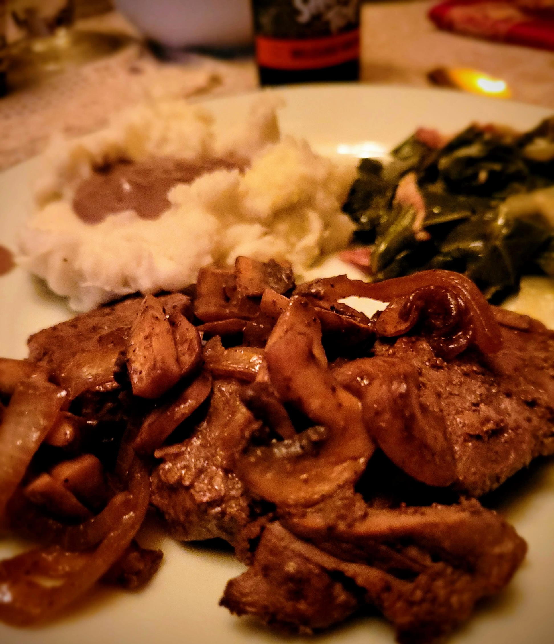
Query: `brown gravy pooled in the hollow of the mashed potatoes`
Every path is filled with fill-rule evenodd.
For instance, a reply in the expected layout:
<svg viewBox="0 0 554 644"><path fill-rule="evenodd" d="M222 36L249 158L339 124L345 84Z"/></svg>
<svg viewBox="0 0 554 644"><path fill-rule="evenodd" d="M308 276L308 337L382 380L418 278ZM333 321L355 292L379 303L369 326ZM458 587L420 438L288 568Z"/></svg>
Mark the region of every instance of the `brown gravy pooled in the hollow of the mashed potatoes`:
<svg viewBox="0 0 554 644"><path fill-rule="evenodd" d="M191 183L207 172L238 167L224 159L202 162L160 156L144 161L121 160L95 169L77 186L73 210L86 223L100 223L108 214L134 210L142 219L157 219L169 208L167 191Z"/></svg>

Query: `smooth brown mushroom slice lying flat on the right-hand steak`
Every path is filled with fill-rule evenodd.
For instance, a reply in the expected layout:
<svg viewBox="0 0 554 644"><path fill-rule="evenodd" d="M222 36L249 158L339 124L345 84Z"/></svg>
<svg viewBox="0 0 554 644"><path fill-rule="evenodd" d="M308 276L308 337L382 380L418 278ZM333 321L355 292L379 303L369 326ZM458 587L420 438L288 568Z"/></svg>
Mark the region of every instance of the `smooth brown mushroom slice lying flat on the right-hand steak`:
<svg viewBox="0 0 554 644"><path fill-rule="evenodd" d="M430 486L455 481L454 451L437 410L439 400L430 391L419 391L414 366L397 358L362 358L333 375L361 400L368 432L394 464Z"/></svg>

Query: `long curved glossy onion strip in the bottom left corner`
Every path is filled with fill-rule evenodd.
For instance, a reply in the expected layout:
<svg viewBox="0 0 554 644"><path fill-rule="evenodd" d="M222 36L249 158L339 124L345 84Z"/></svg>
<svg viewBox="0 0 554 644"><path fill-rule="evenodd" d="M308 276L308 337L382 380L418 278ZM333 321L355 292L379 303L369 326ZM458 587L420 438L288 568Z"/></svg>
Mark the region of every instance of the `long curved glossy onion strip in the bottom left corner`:
<svg viewBox="0 0 554 644"><path fill-rule="evenodd" d="M144 520L149 477L135 460L129 493L110 531L93 550L75 553L54 545L0 562L0 620L27 626L55 615L79 598L122 556Z"/></svg>

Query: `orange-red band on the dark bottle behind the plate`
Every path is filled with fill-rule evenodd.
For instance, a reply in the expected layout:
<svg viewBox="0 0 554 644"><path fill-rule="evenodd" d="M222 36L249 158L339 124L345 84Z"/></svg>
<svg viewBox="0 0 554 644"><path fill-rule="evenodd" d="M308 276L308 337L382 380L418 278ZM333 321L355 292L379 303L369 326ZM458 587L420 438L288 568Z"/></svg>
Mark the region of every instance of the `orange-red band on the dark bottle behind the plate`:
<svg viewBox="0 0 554 644"><path fill-rule="evenodd" d="M320 38L256 36L256 60L274 70L317 70L359 57L359 29Z"/></svg>

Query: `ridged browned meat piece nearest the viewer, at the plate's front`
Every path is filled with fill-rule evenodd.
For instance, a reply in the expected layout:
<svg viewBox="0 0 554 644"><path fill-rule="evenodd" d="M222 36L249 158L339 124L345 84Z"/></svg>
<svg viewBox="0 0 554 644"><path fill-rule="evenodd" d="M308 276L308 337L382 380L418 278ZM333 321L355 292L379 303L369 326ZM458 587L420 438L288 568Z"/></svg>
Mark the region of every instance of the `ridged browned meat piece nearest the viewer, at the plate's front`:
<svg viewBox="0 0 554 644"><path fill-rule="evenodd" d="M342 607L349 609L338 610L327 596L323 625L343 620L356 609L353 600L363 596L394 623L405 643L432 641L468 618L475 601L510 581L526 552L513 528L475 500L363 513L356 498L338 504L330 499L283 521L312 543L270 524L254 564L227 583L222 603L268 623L321 628L323 598L314 593L334 578L342 580L334 597L344 596L348 583L350 602Z"/></svg>

